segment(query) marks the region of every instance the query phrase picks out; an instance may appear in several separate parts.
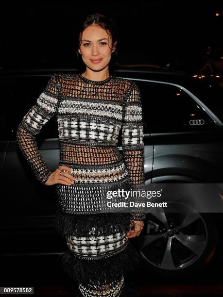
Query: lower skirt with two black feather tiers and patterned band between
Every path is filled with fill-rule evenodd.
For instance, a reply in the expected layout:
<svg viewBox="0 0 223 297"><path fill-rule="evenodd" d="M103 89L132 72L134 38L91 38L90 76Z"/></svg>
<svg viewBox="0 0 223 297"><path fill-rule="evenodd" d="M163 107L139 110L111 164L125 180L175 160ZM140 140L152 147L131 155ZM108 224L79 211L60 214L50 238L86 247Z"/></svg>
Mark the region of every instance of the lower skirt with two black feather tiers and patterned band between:
<svg viewBox="0 0 223 297"><path fill-rule="evenodd" d="M103 285L118 290L122 277L120 292L111 291L108 296L139 296L132 281L128 281L130 273L135 273L140 264L137 248L124 234L130 229L130 216L128 213L68 214L58 208L54 226L66 237L69 247L58 261L65 274L86 292L80 296L91 296L95 287Z"/></svg>

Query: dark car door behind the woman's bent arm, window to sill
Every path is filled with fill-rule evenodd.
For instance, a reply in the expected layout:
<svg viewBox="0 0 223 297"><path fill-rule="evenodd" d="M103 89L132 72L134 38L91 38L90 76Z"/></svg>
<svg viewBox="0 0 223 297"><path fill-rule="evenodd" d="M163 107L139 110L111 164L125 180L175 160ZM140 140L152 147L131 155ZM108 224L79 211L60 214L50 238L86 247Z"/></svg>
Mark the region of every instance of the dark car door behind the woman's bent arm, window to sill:
<svg viewBox="0 0 223 297"><path fill-rule="evenodd" d="M66 246L53 225L58 204L54 188L36 181L16 142L18 124L35 104L49 77L23 74L0 78L4 99L0 116L1 256L53 254ZM40 153L51 169L56 169L59 162L56 124L52 118L36 136Z"/></svg>

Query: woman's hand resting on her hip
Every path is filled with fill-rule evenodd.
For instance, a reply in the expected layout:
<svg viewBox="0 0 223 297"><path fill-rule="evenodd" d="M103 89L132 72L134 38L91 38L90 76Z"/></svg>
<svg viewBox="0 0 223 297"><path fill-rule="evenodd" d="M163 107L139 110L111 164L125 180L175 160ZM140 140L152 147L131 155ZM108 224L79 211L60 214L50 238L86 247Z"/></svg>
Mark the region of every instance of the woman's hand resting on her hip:
<svg viewBox="0 0 223 297"><path fill-rule="evenodd" d="M69 173L63 170L66 170ZM51 173L49 179L45 182L45 185L53 185L56 183L71 185L74 184L74 181L75 179L71 174L71 168L61 166Z"/></svg>

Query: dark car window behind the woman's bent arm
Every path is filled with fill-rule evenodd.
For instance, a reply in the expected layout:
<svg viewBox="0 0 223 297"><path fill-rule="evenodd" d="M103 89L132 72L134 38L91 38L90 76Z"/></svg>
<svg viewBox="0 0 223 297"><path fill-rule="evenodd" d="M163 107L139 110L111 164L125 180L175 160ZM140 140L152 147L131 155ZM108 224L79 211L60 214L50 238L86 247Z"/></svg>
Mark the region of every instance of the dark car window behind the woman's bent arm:
<svg viewBox="0 0 223 297"><path fill-rule="evenodd" d="M23 116L36 103L38 96L45 89L50 76L21 76L0 79L1 140L16 140L17 127ZM53 117L43 126L38 138L58 138L57 123Z"/></svg>

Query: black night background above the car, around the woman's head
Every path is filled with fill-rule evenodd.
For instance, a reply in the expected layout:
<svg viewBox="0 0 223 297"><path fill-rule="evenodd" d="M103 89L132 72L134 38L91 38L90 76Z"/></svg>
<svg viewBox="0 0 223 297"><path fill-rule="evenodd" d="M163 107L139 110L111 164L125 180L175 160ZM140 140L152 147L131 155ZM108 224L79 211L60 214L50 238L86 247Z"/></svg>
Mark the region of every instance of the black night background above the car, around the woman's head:
<svg viewBox="0 0 223 297"><path fill-rule="evenodd" d="M76 28L94 13L117 23L120 64L196 68L208 46L223 47L221 2L8 2L1 9L0 68L76 67Z"/></svg>

